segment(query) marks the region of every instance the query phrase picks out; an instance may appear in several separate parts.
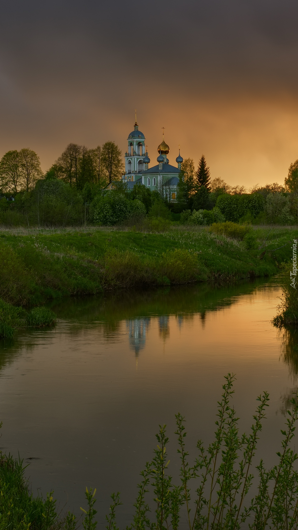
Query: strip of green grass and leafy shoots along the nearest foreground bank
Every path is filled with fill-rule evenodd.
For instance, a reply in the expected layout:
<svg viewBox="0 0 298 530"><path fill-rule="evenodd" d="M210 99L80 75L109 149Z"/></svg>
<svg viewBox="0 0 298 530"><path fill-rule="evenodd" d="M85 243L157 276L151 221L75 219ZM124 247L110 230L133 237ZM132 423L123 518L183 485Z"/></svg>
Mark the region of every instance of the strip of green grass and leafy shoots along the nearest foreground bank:
<svg viewBox="0 0 298 530"><path fill-rule="evenodd" d="M173 482L167 456L166 426L159 426L153 458L140 473L135 512L127 530L296 530L298 526L298 455L293 448L298 419L298 396L288 402L285 430L276 464L266 469L256 461L257 443L266 419L269 395L259 395L249 433L240 435L239 418L231 403L234 376L225 376L218 402L214 440L206 447L197 441L197 455L189 463L185 419L176 414L177 453L180 480ZM275 439L275 438L273 438ZM259 462L259 463L258 463ZM34 498L23 479L22 461L0 453L0 529L75 530L79 521L68 513L60 518L53 492L47 499ZM255 495L250 498L250 490ZM82 524L85 530L97 527L94 507L96 490L86 488ZM116 508L120 493L113 493L107 530L118 530ZM153 504L152 504L153 501ZM150 506L149 506L150 505ZM150 509L153 508L153 509Z"/></svg>

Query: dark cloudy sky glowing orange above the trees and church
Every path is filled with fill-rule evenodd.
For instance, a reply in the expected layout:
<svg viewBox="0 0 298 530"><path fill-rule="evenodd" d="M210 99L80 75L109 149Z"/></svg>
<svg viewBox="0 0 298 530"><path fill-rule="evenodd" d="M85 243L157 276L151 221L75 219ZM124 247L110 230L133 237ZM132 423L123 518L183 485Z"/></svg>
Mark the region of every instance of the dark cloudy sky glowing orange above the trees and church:
<svg viewBox="0 0 298 530"><path fill-rule="evenodd" d="M150 165L204 154L211 178L283 183L298 158L296 0L1 0L0 156L46 171L70 142L127 150L137 109ZM150 167L149 165L149 167Z"/></svg>

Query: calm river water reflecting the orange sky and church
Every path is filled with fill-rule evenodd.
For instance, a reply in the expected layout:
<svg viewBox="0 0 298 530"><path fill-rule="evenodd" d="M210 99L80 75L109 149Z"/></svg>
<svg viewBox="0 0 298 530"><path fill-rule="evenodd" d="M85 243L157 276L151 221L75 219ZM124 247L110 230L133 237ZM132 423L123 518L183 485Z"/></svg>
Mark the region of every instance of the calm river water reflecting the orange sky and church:
<svg viewBox="0 0 298 530"><path fill-rule="evenodd" d="M24 330L0 350L1 446L30 463L34 492L55 490L60 508L84 505L97 488L99 517L121 491L129 523L139 472L166 423L170 472L178 460L175 413L187 419L188 448L214 432L223 376L237 374L234 403L248 430L270 393L258 457L272 464L288 396L296 385L297 339L276 330L276 280L199 285L52 303L55 329Z"/></svg>

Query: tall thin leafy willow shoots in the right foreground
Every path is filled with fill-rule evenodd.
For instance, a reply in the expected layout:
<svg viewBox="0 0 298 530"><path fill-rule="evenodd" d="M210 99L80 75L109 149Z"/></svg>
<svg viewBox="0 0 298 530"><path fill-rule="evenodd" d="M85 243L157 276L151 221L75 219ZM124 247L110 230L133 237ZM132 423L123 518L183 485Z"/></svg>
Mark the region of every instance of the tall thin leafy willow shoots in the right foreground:
<svg viewBox="0 0 298 530"><path fill-rule="evenodd" d="M147 462L141 472L142 480L138 484L138 497L134 504L136 512L127 530L177 530L182 518L183 528L186 526L189 530L296 530L298 473L295 462L298 455L291 448L291 440L298 418L298 396L291 400L292 411L287 411L286 428L281 431L283 440L282 449L277 453L279 461L267 470L262 460L255 467L254 457L266 418L268 393L258 396L259 405L250 433L240 436L239 418L230 403L234 392L233 381L233 375L225 377L222 399L218 402L214 441L205 448L202 440L198 440L193 464L188 462L185 420L180 413L176 414L175 435L181 463L177 485L168 474L170 461L166 426L159 426L157 449L152 462ZM259 484L256 495L248 501L254 469L258 471ZM153 521L150 520L151 510L147 501L147 494L151 492L155 503ZM114 514L117 503L120 504L119 493L114 494L112 499L113 528L116 528Z"/></svg>

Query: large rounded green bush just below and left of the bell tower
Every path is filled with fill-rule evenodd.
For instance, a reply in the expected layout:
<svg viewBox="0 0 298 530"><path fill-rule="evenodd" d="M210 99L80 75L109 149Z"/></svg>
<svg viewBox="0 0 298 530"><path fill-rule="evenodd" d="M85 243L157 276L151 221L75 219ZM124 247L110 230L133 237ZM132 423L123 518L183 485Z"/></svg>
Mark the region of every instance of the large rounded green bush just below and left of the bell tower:
<svg viewBox="0 0 298 530"><path fill-rule="evenodd" d="M129 200L122 193L109 191L106 195L97 195L91 204L93 222L99 225L115 225L127 219Z"/></svg>

